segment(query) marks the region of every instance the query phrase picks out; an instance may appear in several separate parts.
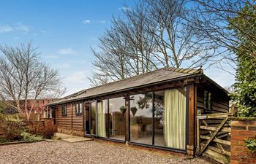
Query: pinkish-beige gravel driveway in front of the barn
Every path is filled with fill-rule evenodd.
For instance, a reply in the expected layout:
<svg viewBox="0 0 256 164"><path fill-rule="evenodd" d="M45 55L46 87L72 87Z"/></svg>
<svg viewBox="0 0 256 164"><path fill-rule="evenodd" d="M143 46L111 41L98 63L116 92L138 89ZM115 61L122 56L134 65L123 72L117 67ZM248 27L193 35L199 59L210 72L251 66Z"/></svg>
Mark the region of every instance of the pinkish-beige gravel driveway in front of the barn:
<svg viewBox="0 0 256 164"><path fill-rule="evenodd" d="M0 163L208 163L97 141L36 142L0 146Z"/></svg>

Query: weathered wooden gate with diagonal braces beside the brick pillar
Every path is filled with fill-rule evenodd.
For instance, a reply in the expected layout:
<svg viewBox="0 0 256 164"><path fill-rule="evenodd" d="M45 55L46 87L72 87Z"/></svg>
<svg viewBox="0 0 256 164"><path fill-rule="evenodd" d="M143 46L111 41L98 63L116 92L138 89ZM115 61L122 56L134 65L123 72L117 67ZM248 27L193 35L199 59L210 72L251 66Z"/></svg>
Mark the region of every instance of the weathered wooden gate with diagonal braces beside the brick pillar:
<svg viewBox="0 0 256 164"><path fill-rule="evenodd" d="M197 156L219 163L230 163L231 113L200 114L197 112Z"/></svg>

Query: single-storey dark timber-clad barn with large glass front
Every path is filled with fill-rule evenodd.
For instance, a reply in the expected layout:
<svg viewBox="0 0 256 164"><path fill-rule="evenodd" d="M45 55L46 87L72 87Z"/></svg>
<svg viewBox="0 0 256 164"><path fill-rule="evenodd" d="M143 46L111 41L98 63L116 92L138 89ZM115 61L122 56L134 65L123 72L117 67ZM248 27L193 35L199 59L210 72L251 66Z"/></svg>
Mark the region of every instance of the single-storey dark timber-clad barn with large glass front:
<svg viewBox="0 0 256 164"><path fill-rule="evenodd" d="M196 115L228 112L201 69L157 69L48 104L58 131L195 155Z"/></svg>

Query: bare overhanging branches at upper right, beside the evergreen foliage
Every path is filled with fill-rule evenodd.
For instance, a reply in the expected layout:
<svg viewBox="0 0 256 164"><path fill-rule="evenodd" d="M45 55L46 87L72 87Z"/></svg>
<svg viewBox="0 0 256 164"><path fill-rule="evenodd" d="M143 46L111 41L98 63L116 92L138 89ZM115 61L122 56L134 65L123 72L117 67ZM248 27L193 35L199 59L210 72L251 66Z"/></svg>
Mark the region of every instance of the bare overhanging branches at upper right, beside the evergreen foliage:
<svg viewBox="0 0 256 164"><path fill-rule="evenodd" d="M217 66L224 71L227 70L222 68L223 64L236 69L236 56L231 50L236 50L239 47L240 49L251 51L251 47L241 42L236 37L235 31L244 34L254 45L256 45L256 36L253 30L244 31L243 28L236 26L230 20L237 16L256 17L254 12L251 14L243 12L246 4L255 10L256 2L250 0L193 0L193 2L195 8L194 12L192 12L193 17L190 19L193 28L195 28L199 36L203 36L208 42L214 43L216 45L214 50L219 51L218 58L214 58L211 65ZM246 25L252 27L251 29L255 29L255 23L248 20L244 19Z"/></svg>

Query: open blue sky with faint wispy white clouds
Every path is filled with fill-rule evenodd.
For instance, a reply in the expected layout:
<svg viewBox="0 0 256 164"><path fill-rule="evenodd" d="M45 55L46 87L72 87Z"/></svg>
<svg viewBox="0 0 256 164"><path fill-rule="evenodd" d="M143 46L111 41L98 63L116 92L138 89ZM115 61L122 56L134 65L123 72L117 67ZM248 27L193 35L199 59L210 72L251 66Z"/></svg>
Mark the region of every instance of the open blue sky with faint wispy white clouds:
<svg viewBox="0 0 256 164"><path fill-rule="evenodd" d="M133 1L1 1L0 44L18 46L32 42L42 60L59 69L67 94L89 87L94 55L90 47L110 27L113 15ZM232 71L232 70L231 70ZM219 85L234 82L219 69L205 71Z"/></svg>

